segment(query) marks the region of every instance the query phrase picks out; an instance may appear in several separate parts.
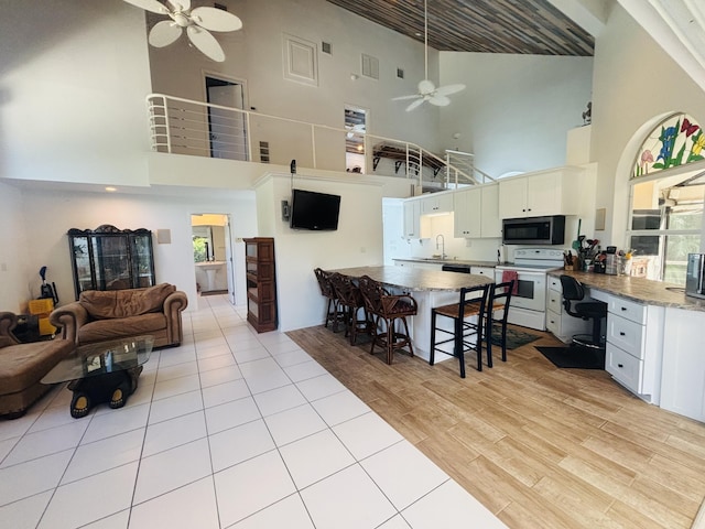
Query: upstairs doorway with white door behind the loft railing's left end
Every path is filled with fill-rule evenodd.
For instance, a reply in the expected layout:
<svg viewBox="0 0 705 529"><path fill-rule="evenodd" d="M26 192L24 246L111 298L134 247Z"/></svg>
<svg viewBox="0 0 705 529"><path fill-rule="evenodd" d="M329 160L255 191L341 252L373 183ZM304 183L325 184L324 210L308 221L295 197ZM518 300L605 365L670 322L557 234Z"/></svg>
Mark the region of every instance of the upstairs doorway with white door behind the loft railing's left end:
<svg viewBox="0 0 705 529"><path fill-rule="evenodd" d="M227 108L208 107L210 158L248 161L245 84L206 75L206 101ZM231 110L232 109L232 110Z"/></svg>

